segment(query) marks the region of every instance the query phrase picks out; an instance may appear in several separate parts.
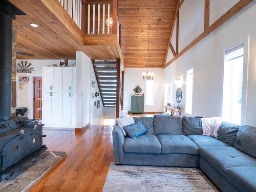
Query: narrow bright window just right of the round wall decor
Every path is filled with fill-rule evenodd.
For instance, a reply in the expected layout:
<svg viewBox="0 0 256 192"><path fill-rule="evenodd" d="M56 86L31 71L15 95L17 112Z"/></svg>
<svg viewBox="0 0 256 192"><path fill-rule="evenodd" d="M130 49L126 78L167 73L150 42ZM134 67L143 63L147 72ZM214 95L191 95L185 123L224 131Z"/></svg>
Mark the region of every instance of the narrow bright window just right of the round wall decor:
<svg viewBox="0 0 256 192"><path fill-rule="evenodd" d="M187 70L186 78L186 114L192 115L192 102L193 102L193 81L194 81L194 68Z"/></svg>

